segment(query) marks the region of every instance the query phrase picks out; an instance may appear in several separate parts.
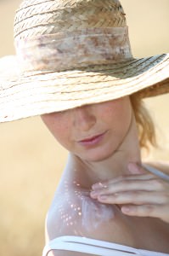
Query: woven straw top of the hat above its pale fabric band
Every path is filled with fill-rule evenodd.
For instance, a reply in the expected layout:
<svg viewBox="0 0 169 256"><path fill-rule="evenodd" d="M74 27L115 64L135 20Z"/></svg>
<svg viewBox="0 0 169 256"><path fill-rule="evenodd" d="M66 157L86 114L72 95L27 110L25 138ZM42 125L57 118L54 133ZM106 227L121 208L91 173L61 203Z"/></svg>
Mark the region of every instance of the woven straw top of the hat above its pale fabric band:
<svg viewBox="0 0 169 256"><path fill-rule="evenodd" d="M126 26L118 0L24 0L14 20L14 38Z"/></svg>

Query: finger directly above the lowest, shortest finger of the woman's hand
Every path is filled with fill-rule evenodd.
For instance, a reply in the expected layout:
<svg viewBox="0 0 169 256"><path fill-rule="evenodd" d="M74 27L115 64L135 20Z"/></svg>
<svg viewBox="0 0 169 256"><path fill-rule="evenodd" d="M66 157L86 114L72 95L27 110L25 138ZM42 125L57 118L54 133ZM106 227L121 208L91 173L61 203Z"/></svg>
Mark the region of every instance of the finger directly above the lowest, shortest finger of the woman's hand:
<svg viewBox="0 0 169 256"><path fill-rule="evenodd" d="M161 192L129 191L113 195L99 195L98 201L106 204L169 205L169 195Z"/></svg>

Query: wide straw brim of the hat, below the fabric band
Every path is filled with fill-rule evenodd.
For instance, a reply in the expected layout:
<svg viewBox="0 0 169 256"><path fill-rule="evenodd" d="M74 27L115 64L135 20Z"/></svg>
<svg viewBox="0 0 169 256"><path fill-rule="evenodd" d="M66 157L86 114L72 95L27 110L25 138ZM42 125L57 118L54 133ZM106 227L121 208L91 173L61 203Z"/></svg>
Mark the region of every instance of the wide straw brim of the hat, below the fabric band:
<svg viewBox="0 0 169 256"><path fill-rule="evenodd" d="M50 73L19 73L15 56L0 60L0 122L137 93L169 92L169 54Z"/></svg>

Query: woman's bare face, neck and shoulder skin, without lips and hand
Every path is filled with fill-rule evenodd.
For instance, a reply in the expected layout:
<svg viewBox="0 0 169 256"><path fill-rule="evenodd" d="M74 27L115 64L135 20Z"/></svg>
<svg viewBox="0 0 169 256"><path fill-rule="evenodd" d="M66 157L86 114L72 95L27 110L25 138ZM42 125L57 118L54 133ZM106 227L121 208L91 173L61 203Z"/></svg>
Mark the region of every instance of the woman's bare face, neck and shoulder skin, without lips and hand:
<svg viewBox="0 0 169 256"><path fill-rule="evenodd" d="M44 114L42 120L70 152L48 212L47 241L57 236L87 236L167 252L166 224L154 218L127 216L121 207L90 196L94 183L127 175L129 162L141 162L129 97ZM93 146L80 143L102 133L103 139Z"/></svg>

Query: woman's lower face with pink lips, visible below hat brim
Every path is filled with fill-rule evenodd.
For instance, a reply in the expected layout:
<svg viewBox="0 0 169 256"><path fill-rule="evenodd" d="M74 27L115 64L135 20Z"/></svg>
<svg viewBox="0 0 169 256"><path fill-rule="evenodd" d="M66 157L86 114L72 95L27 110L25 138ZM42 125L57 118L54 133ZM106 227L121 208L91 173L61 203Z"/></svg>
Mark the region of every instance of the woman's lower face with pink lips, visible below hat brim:
<svg viewBox="0 0 169 256"><path fill-rule="evenodd" d="M57 141L82 160L99 161L121 146L132 121L128 96L42 115Z"/></svg>

